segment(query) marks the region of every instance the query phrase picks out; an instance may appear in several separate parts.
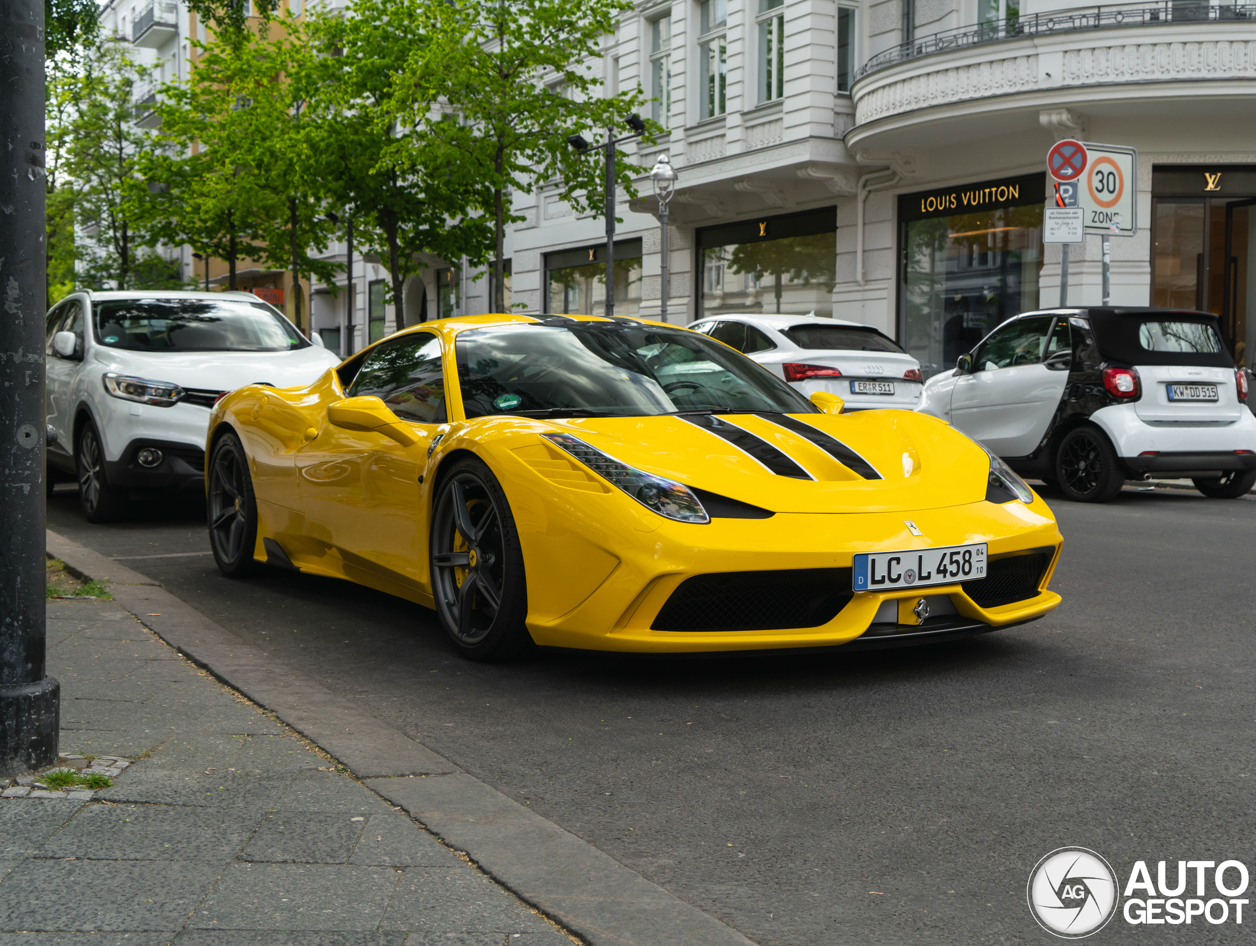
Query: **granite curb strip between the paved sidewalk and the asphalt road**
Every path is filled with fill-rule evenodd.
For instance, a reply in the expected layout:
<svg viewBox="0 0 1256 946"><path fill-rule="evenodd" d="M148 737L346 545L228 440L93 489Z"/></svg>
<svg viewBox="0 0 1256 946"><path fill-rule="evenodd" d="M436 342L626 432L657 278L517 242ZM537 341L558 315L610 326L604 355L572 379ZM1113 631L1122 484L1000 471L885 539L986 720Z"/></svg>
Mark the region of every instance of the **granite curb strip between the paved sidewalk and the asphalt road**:
<svg viewBox="0 0 1256 946"><path fill-rule="evenodd" d="M273 711L490 877L593 946L754 946L715 917L249 646L153 579L48 531L48 554Z"/></svg>

